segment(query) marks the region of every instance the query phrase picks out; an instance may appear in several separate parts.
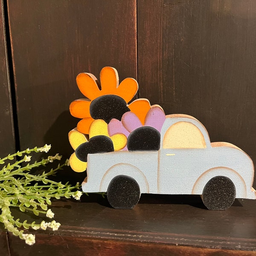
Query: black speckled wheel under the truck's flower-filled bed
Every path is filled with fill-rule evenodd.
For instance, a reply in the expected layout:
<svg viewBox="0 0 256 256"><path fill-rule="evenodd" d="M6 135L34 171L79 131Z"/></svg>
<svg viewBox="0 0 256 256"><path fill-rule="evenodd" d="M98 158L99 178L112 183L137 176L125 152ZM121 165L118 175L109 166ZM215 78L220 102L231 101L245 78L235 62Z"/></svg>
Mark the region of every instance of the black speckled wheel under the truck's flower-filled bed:
<svg viewBox="0 0 256 256"><path fill-rule="evenodd" d="M115 209L132 209L140 199L140 186L134 178L118 175L109 183L107 197Z"/></svg>

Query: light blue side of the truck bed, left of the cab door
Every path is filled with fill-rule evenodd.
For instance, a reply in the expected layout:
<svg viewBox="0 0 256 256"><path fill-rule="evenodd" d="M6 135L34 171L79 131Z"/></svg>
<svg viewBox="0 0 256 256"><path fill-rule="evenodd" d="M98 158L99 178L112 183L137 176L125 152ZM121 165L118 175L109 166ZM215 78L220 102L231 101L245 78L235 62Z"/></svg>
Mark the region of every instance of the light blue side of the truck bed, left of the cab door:
<svg viewBox="0 0 256 256"><path fill-rule="evenodd" d="M86 192L106 192L107 186L102 185L102 180L113 168L118 169L118 175L128 176L130 175L130 170L137 169L138 172L145 175L145 179L148 182L148 191L142 189L141 193L156 193L157 166L158 151L115 151L88 154L87 179L82 183L82 188Z"/></svg>

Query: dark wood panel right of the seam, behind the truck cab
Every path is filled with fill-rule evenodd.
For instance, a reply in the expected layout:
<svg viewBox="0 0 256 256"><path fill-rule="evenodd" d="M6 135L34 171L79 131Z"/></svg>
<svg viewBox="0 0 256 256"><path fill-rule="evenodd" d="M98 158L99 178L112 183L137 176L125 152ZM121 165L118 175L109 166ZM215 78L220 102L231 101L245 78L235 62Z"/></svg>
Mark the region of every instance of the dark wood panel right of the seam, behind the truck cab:
<svg viewBox="0 0 256 256"><path fill-rule="evenodd" d="M256 163L256 1L138 0L139 96Z"/></svg>

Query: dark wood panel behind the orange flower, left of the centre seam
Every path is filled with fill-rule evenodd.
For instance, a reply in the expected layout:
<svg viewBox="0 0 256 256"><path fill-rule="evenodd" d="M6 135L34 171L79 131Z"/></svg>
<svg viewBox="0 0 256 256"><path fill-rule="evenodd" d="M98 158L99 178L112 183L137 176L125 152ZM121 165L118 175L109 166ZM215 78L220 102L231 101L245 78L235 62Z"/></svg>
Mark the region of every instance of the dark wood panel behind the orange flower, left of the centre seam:
<svg viewBox="0 0 256 256"><path fill-rule="evenodd" d="M84 98L76 76L116 67L137 77L136 1L8 1L20 148L52 144L69 157L68 132L80 119L70 103Z"/></svg>

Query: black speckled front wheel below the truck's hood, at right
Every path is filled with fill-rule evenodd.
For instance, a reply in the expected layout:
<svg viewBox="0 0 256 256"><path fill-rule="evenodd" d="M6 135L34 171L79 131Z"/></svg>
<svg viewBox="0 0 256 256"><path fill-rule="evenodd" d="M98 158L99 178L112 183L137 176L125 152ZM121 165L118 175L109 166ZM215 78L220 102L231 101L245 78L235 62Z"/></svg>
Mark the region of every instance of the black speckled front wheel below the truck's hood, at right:
<svg viewBox="0 0 256 256"><path fill-rule="evenodd" d="M225 210L236 198L236 188L232 180L224 176L210 179L204 187L202 200L209 210Z"/></svg>

